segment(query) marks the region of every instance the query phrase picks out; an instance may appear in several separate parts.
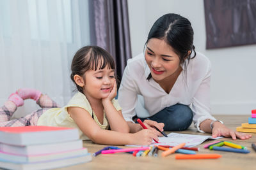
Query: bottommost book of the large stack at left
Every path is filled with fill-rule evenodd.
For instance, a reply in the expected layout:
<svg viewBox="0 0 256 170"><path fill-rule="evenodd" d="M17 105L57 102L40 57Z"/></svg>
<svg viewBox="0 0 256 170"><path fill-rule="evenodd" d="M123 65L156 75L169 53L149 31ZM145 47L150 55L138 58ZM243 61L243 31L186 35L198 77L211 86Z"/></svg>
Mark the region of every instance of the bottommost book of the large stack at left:
<svg viewBox="0 0 256 170"><path fill-rule="evenodd" d="M4 162L0 160L0 167L5 169L22 169L22 170L38 170L38 169L54 169L59 167L73 166L83 164L92 160L91 153L80 155L78 157L70 157L67 159L53 160L49 162L35 162L29 164L15 164L12 162Z"/></svg>

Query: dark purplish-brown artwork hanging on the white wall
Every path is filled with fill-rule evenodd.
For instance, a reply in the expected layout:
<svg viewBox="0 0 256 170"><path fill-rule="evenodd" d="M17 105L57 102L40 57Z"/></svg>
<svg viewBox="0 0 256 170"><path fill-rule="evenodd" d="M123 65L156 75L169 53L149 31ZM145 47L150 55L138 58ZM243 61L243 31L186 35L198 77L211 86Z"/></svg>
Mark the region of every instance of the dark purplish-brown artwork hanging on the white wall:
<svg viewBox="0 0 256 170"><path fill-rule="evenodd" d="M256 43L256 0L204 0L206 48Z"/></svg>

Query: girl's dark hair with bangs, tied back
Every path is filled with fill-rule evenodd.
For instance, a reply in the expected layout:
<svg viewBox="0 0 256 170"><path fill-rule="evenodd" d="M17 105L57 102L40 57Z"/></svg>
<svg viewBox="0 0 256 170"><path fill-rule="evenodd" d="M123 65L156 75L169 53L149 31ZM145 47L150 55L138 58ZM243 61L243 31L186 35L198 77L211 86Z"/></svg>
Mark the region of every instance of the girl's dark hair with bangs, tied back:
<svg viewBox="0 0 256 170"><path fill-rule="evenodd" d="M106 66L108 69L115 69L115 61L106 50L99 46L84 46L74 55L70 78L76 84L74 80L76 74L83 77L86 71L96 71L97 69L104 69ZM79 92L83 93L83 87L77 84L76 87Z"/></svg>

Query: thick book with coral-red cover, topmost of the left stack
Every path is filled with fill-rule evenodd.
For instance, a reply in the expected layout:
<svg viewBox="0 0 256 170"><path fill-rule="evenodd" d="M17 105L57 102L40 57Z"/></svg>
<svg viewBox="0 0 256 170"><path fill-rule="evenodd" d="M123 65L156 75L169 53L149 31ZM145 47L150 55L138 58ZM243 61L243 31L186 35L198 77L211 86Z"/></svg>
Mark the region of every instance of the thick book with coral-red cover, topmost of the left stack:
<svg viewBox="0 0 256 170"><path fill-rule="evenodd" d="M0 143L38 145L79 139L77 129L50 126L0 127Z"/></svg>

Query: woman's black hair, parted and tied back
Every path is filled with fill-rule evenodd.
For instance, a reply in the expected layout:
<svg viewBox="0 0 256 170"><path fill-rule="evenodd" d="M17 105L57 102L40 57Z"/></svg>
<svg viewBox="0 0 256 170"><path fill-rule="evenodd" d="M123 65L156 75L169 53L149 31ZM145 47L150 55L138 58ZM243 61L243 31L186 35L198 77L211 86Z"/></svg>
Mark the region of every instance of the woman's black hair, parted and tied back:
<svg viewBox="0 0 256 170"><path fill-rule="evenodd" d="M193 45L194 31L191 23L187 18L184 18L175 13L168 13L156 20L148 33L148 38L145 43L152 38L163 39L166 43L172 46L173 50L180 59L180 64L185 67L188 65L189 60L196 56L195 46ZM191 57L189 50L194 51L194 56ZM188 63L185 60L188 59ZM151 73L148 75L147 80L152 78Z"/></svg>

